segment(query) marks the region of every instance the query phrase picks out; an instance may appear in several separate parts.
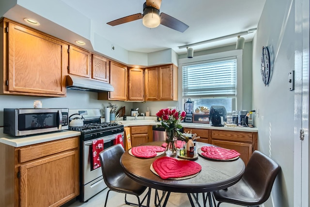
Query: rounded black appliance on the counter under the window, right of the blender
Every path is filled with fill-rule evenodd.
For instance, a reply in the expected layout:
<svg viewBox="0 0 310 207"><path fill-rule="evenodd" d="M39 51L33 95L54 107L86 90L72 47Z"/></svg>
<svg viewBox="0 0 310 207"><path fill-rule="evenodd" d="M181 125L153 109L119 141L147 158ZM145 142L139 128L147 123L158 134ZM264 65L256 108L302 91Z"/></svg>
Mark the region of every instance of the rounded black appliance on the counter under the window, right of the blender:
<svg viewBox="0 0 310 207"><path fill-rule="evenodd" d="M224 127L227 121L227 112L224 106L211 106L209 112L210 126Z"/></svg>

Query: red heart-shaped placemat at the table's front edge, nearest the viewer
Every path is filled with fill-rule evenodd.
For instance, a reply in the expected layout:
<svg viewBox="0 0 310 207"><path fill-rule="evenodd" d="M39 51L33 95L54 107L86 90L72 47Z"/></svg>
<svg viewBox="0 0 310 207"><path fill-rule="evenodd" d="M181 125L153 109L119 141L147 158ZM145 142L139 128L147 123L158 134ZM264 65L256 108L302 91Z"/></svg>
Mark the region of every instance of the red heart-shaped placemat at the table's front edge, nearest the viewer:
<svg viewBox="0 0 310 207"><path fill-rule="evenodd" d="M153 168L162 179L194 175L202 170L202 166L191 160L178 160L171 157L158 158Z"/></svg>

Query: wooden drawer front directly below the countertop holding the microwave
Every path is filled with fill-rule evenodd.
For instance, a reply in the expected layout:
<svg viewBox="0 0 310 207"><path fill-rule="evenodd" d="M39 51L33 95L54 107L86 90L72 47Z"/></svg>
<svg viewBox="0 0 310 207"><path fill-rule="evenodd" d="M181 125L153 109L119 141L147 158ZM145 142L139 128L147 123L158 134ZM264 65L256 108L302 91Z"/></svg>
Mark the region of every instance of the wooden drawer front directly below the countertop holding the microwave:
<svg viewBox="0 0 310 207"><path fill-rule="evenodd" d="M74 148L78 148L78 137L27 146L19 149L19 162L42 158Z"/></svg>

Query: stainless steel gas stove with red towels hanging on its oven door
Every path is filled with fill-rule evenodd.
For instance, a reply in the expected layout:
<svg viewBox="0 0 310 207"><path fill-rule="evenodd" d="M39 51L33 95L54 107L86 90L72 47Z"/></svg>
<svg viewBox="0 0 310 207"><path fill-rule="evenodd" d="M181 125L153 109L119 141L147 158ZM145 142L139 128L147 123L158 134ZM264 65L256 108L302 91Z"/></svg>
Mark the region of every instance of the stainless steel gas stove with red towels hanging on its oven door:
<svg viewBox="0 0 310 207"><path fill-rule="evenodd" d="M80 131L80 202L87 202L98 192L107 188L102 176L101 167L93 169L92 143L103 139L104 149L112 146L116 136L124 140L124 126L116 122L101 123L100 109L69 110L69 115L77 113L84 118L81 127L69 127L69 130ZM113 170L113 169L111 169Z"/></svg>

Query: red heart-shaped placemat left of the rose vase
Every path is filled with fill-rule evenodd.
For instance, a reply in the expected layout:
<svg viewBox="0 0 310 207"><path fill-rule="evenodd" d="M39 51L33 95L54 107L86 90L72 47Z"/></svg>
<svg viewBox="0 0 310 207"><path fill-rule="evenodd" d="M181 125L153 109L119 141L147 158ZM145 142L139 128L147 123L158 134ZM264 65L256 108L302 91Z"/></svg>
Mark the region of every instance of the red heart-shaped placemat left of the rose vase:
<svg viewBox="0 0 310 207"><path fill-rule="evenodd" d="M131 148L132 155L139 158L154 158L157 152L163 151L165 151L165 148L153 145L135 146Z"/></svg>

